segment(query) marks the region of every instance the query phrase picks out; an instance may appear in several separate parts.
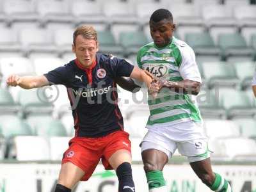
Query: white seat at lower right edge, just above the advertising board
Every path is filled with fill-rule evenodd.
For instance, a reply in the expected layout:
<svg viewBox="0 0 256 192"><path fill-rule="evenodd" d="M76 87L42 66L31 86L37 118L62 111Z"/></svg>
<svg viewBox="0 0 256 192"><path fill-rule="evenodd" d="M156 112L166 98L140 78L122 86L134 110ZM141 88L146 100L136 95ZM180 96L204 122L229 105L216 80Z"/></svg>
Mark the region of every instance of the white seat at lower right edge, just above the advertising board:
<svg viewBox="0 0 256 192"><path fill-rule="evenodd" d="M256 161L256 142L248 138L226 138L215 141L221 153L227 154L225 161Z"/></svg>

